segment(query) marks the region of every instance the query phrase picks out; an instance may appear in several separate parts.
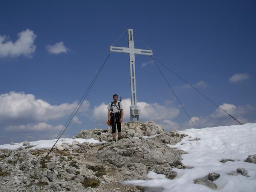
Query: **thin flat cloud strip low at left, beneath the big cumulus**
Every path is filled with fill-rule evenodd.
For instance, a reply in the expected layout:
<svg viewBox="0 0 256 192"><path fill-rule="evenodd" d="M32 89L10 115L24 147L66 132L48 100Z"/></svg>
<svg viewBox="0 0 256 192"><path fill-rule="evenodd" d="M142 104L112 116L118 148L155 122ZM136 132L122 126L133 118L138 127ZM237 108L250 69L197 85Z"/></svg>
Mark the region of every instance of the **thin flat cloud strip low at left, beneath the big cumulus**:
<svg viewBox="0 0 256 192"><path fill-rule="evenodd" d="M59 124L58 126L52 126L50 124L47 124L45 122L38 123L38 124L27 124L27 125L15 125L15 126L8 126L4 128L6 131L50 131L50 132L56 132L62 130L63 125Z"/></svg>

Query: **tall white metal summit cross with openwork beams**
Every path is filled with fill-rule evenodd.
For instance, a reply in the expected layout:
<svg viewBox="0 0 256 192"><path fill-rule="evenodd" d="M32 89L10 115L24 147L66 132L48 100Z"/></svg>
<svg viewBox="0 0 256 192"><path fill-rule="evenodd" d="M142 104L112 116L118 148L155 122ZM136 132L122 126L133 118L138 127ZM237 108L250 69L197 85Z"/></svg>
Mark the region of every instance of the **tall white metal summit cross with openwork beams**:
<svg viewBox="0 0 256 192"><path fill-rule="evenodd" d="M136 78L135 78L135 54L142 55L153 55L152 50L135 49L133 41L133 29L128 29L128 43L129 47L113 47L110 46L110 52L128 53L130 59L130 80L131 80L131 101L130 106L130 117L131 121L134 118L139 121L140 109L137 106L137 95L136 95Z"/></svg>

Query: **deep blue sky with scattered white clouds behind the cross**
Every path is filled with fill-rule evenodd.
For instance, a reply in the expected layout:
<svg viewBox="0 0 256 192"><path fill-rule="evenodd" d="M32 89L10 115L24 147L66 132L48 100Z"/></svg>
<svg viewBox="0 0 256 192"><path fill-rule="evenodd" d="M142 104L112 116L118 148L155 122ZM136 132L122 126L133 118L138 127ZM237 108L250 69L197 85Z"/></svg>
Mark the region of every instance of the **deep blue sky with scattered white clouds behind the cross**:
<svg viewBox="0 0 256 192"><path fill-rule="evenodd" d="M255 1L2 1L0 144L56 138L128 28L153 56L242 123L256 122ZM135 48L148 49L134 34ZM128 46L127 34L115 46ZM150 56L136 55L141 121L193 128ZM198 128L236 124L161 67ZM64 132L107 128L106 105L123 98L130 119L128 54L112 53Z"/></svg>

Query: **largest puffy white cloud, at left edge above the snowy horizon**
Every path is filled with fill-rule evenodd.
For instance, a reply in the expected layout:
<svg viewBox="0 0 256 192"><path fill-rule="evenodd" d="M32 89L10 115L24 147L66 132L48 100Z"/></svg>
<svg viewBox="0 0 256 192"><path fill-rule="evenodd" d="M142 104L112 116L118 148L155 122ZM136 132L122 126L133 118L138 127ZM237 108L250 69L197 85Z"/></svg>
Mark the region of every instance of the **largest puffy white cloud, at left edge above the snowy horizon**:
<svg viewBox="0 0 256 192"><path fill-rule="evenodd" d="M0 95L0 125L29 124L57 120L70 115L76 108L77 102L50 105L32 94L10 92ZM88 110L90 104L84 101L82 111ZM78 119L75 118L75 121Z"/></svg>

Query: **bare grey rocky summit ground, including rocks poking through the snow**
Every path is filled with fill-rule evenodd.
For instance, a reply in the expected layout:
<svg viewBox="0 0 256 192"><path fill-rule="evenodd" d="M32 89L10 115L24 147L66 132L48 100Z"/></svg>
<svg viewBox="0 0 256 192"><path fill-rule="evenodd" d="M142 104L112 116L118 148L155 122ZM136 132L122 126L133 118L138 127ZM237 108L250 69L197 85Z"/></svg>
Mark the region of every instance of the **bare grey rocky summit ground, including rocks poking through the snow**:
<svg viewBox="0 0 256 192"><path fill-rule="evenodd" d="M31 150L29 142L24 142L18 150L0 150L0 192L39 192L40 178L42 192L144 192L144 188L124 186L120 181L148 180L149 171L175 178L173 167L188 168L180 158L185 152L166 145L174 145L185 136L176 130L165 132L152 121L123 122L122 139L118 142L111 142L110 127L82 130L75 138L94 138L101 143L56 144L43 169L42 160L49 149ZM249 160L253 163L256 155L248 157ZM242 169L230 174L247 176ZM194 183L214 189L212 181L218 177L218 173L209 173Z"/></svg>

